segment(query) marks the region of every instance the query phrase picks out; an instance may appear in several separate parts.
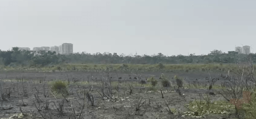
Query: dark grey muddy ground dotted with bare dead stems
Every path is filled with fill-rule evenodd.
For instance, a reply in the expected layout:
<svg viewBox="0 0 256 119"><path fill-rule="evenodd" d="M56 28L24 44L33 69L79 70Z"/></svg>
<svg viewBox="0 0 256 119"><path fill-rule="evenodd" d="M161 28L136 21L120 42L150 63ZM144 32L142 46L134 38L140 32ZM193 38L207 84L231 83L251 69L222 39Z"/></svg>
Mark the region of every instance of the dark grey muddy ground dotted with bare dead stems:
<svg viewBox="0 0 256 119"><path fill-rule="evenodd" d="M91 94L94 97L94 106L90 105L87 99L85 99L85 107L82 110L83 116L82 119L192 119L189 116L183 116L182 112L187 111L184 107L185 104L188 104L188 101L191 99L199 99L199 93L206 93L205 89L180 89L182 93L184 93L185 98L178 95L177 92L174 91L174 86L171 86L166 89L161 87L161 84L158 83L158 87L163 90L163 96L159 90L156 91L146 91L146 88L143 85L135 84L134 82L137 77L134 74L128 73L118 73L118 76L115 72L109 74L112 77L113 82L118 81L118 77L122 77L120 79L122 82L119 86L119 93L116 90L116 85L112 85L112 92L114 98L113 101L109 99L102 100L102 96L98 93L100 92L100 79L101 75L98 72L0 72L0 80L3 88L6 88L9 91L11 90L11 96L6 101L1 101L1 110L0 117L8 118L13 114L21 113L20 110L24 114L32 114L28 116L23 116L23 119L34 119L35 114L36 118L42 118L41 114L50 119L67 119L68 116L71 116L71 103L75 110L76 119L78 119L79 114L81 113L81 109L83 105L83 90L88 89L88 86L93 85L93 89ZM138 74L140 76L140 73ZM143 72L141 74L142 79L146 79L150 76L155 76L156 78L160 77L161 73L158 72ZM223 78L220 78L220 74L218 73L165 73L165 76L168 76L171 80L175 75L184 77L184 81L186 83L199 82L200 85L207 85L209 81L213 78L219 78L219 80L215 80L215 84L219 84L220 81L223 81ZM21 82L21 78L23 76L23 83ZM55 92L49 91L47 97L44 97L43 83L42 80L46 76L46 92L49 90L50 81L54 81L56 79L59 80L70 80L69 85L69 95L61 96L57 95ZM89 80L90 84L85 84L85 81L93 76L93 81ZM106 74L102 76L106 77ZM131 77L131 78L130 78ZM211 79L209 79L211 77ZM78 81L73 83L74 81ZM134 90L132 94L129 94L129 84L133 82ZM118 83L116 83L118 84ZM175 85L175 84L173 84ZM24 95L23 86L26 90L26 96ZM158 89L160 89L158 88ZM214 90L212 91L214 92ZM35 98L39 96L39 100ZM119 98L118 98L119 95ZM54 97L55 96L55 97ZM212 100L220 100L222 97L220 95L209 95ZM65 98L64 98L65 97ZM135 112L135 101L137 98L144 98L142 102L144 104L140 107L139 114ZM150 103L149 103L150 99ZM48 101L49 107L46 107L46 101ZM64 101L64 111L62 114L59 114L59 104ZM175 109L176 112L180 112L181 114L169 114L166 111L166 104L169 105L169 108ZM35 107L42 107L38 111ZM56 104L56 106L54 105ZM40 105L39 105L40 104ZM41 114L40 114L41 113ZM206 115L207 119L221 119L221 118L231 118L227 117L227 115ZM17 118L17 117L14 117Z"/></svg>

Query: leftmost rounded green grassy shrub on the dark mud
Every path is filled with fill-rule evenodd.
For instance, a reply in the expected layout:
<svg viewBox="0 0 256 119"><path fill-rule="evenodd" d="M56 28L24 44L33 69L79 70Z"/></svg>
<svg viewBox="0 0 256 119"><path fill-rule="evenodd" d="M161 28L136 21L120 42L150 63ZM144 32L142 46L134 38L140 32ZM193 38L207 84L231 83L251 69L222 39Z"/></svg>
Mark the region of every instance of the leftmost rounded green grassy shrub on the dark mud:
<svg viewBox="0 0 256 119"><path fill-rule="evenodd" d="M68 95L67 83L63 81L55 81L51 86L51 90L57 92L58 94Z"/></svg>

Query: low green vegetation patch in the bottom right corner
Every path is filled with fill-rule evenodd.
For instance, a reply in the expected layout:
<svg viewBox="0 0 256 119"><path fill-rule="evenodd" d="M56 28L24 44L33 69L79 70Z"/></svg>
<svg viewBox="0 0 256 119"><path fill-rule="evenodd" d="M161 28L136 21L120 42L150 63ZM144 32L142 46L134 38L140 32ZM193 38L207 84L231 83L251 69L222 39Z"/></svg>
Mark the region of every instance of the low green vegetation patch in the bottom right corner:
<svg viewBox="0 0 256 119"><path fill-rule="evenodd" d="M244 119L256 119L256 93L244 91L242 99L232 98L230 101L211 102L208 95L201 99L203 101L190 101L189 104L185 105L188 111L184 115L204 117L206 114L231 114L236 112Z"/></svg>

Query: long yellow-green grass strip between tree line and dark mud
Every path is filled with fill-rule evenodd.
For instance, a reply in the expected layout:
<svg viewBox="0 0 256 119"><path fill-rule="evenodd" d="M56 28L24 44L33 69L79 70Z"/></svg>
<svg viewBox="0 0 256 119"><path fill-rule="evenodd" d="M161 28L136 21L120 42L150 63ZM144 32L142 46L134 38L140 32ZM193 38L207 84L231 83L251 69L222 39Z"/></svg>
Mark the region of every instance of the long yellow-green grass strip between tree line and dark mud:
<svg viewBox="0 0 256 119"><path fill-rule="evenodd" d="M255 66L256 67L256 66ZM110 71L130 72L131 70L145 72L235 72L237 67L234 64L56 64L52 66L31 66L31 67L12 67L1 66L0 70L34 70L34 71L95 71L100 69Z"/></svg>

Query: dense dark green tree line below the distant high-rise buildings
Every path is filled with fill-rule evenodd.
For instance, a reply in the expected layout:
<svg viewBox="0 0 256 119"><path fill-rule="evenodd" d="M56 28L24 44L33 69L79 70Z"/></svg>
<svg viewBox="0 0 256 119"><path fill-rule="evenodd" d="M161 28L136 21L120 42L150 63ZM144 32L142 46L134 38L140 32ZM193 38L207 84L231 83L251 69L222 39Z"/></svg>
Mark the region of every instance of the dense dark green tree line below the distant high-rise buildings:
<svg viewBox="0 0 256 119"><path fill-rule="evenodd" d="M157 56L149 55L118 55L117 53L73 53L70 55L60 55L55 52L32 52L22 51L14 47L12 50L0 50L0 65L3 66L49 66L61 63L73 64L208 64L208 63L235 63L245 57L234 51L223 53L220 50L213 50L208 55L190 54L165 56L158 53ZM251 53L250 59L256 62L256 54Z"/></svg>

